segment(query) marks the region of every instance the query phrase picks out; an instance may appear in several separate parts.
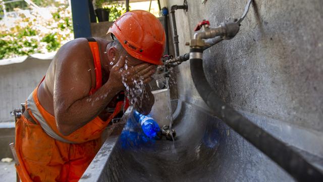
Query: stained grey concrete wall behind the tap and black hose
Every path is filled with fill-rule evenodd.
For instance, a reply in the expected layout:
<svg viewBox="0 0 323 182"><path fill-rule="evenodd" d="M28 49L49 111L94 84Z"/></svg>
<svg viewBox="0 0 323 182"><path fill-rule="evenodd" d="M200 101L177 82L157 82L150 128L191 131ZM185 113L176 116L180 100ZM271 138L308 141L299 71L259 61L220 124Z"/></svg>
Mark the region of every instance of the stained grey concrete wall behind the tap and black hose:
<svg viewBox="0 0 323 182"><path fill-rule="evenodd" d="M204 51L208 82L224 101L251 121L291 146L321 159L323 2L254 2L234 39ZM183 1L168 3L170 8L182 5ZM242 15L246 3L246 0L219 0L202 4L202 1L188 0L188 12L176 12L180 54L189 52L184 42L192 37L199 21L209 20L213 27L232 21ZM180 65L179 70L179 97L208 111L191 79L189 63ZM243 153L255 152L243 144L236 147L243 151L241 158L248 157ZM262 160L252 163L262 166ZM315 165L321 167L322 163Z"/></svg>

